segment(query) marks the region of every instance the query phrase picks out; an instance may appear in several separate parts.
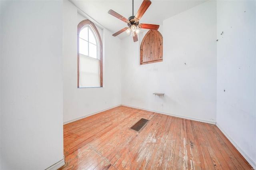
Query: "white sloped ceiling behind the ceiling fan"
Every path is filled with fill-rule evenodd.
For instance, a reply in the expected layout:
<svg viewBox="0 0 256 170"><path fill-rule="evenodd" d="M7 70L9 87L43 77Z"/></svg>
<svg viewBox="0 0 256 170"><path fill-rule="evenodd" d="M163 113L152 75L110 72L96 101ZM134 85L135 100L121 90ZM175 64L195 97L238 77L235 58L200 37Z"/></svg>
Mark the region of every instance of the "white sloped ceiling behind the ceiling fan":
<svg viewBox="0 0 256 170"><path fill-rule="evenodd" d="M140 19L140 23L162 25L163 20L186 11L207 0L151 0L151 5ZM125 22L108 14L108 10L114 10L118 14L129 18L132 16L132 0L70 0L80 8L90 19L95 20L112 34L127 27ZM142 0L134 0L134 16L136 15ZM88 18L89 19L89 18ZM142 32L146 31L141 29ZM120 39L126 38L125 32L119 34Z"/></svg>

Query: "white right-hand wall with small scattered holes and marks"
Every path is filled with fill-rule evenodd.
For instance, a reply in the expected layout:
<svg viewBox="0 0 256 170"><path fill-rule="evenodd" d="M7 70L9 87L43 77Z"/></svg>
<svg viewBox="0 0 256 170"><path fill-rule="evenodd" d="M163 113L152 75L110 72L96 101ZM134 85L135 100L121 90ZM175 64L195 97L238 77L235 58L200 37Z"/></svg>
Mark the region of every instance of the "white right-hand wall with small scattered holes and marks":
<svg viewBox="0 0 256 170"><path fill-rule="evenodd" d="M256 168L255 1L217 1L217 38L217 125Z"/></svg>

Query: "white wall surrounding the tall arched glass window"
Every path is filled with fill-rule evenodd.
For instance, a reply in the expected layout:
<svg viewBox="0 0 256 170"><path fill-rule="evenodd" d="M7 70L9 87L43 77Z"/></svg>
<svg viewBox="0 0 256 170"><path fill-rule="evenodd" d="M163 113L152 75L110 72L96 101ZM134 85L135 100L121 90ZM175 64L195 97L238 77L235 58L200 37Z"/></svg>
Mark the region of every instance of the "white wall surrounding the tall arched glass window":
<svg viewBox="0 0 256 170"><path fill-rule="evenodd" d="M64 1L63 11L63 121L68 123L121 104L121 40L106 29L99 30L103 43L104 87L78 89L77 25L85 18L69 1Z"/></svg>

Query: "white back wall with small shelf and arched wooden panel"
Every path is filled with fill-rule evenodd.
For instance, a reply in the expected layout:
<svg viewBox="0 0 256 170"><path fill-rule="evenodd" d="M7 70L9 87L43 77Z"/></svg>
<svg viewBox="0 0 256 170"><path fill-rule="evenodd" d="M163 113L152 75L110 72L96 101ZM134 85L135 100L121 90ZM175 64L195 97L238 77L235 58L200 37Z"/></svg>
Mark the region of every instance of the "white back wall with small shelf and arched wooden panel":
<svg viewBox="0 0 256 170"><path fill-rule="evenodd" d="M139 43L122 40L122 105L215 123L216 2L164 20L160 32L163 62L139 65Z"/></svg>

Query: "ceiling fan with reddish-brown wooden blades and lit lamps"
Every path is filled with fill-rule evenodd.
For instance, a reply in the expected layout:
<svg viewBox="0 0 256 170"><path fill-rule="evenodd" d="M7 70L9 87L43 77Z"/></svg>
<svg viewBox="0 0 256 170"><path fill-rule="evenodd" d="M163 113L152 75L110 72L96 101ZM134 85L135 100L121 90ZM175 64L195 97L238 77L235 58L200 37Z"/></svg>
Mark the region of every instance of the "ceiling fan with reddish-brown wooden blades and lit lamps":
<svg viewBox="0 0 256 170"><path fill-rule="evenodd" d="M123 22L126 22L128 27L123 28L122 30L116 32L112 36L117 36L121 34L122 32L126 32L126 34L130 35L133 37L133 41L136 42L138 41L138 36L137 34L140 33L140 30L137 28L143 28L143 29L151 29L151 30L158 30L159 25L154 25L154 24L139 24L140 18L143 16L143 14L146 12L148 7L150 6L151 1L150 0L143 0L142 4L140 5L140 8L135 16L133 16L133 0L132 0L132 16L128 18L124 18L120 14L114 12L113 10L109 10L108 14L122 20Z"/></svg>

